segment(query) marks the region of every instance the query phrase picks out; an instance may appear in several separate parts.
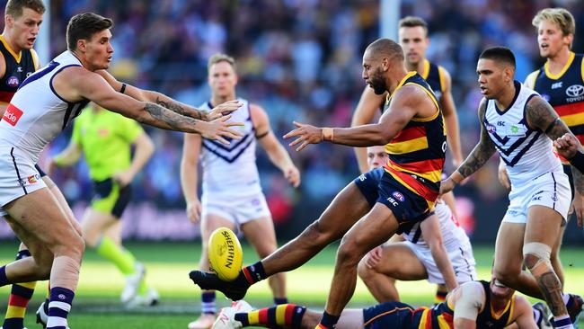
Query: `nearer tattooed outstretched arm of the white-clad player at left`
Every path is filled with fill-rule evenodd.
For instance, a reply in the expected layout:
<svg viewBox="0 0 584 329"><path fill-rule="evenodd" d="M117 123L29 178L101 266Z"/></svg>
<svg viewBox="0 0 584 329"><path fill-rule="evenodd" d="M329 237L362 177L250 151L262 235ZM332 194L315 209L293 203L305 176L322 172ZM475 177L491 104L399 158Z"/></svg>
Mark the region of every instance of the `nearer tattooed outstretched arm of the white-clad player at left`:
<svg viewBox="0 0 584 329"><path fill-rule="evenodd" d="M231 126L239 122L226 122L230 117L222 117L211 122L192 119L171 111L153 102L140 102L124 93L118 93L102 76L83 67L69 67L59 73L53 85L59 95L70 102L83 99L96 102L104 109L160 129L198 133L204 138L217 139L229 144L225 138L240 138L242 135Z"/></svg>

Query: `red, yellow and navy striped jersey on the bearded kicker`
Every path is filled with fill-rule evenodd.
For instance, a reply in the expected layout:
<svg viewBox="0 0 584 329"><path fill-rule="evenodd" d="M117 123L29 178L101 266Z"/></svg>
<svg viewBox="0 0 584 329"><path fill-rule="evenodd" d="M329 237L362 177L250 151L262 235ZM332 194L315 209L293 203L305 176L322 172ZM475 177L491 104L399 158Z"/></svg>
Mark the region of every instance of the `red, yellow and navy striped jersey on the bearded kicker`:
<svg viewBox="0 0 584 329"><path fill-rule="evenodd" d="M415 84L428 93L436 105L436 114L427 119L412 118L391 142L385 145L389 156L385 172L404 187L420 195L431 209L438 197L440 175L444 166L447 138L442 111L429 84L417 73L410 72L398 84ZM394 94L395 94L394 92ZM391 102L391 97L388 102Z"/></svg>

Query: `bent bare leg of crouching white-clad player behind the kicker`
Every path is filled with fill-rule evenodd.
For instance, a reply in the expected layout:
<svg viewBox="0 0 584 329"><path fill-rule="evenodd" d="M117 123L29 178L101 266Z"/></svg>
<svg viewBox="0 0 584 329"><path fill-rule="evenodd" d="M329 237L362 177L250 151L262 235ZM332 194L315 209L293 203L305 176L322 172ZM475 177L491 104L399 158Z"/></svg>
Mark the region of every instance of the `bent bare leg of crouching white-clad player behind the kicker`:
<svg viewBox="0 0 584 329"><path fill-rule="evenodd" d="M407 243L381 245L381 259L367 265L367 255L358 264L358 276L380 303L399 301L395 280L424 280L428 272Z"/></svg>

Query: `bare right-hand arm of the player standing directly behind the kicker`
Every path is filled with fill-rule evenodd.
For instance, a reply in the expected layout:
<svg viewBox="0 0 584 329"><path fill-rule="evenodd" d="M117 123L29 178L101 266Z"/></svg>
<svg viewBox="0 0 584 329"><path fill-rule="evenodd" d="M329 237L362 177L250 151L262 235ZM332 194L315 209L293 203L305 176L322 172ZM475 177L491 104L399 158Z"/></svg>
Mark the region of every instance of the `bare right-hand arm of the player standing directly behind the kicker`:
<svg viewBox="0 0 584 329"><path fill-rule="evenodd" d="M456 113L454 97L452 97L452 78L447 70L442 69L441 71L445 84L444 92L442 92L442 114L447 125L447 141L448 147L450 147L452 163L458 166L463 162L463 152L460 147L458 114Z"/></svg>

